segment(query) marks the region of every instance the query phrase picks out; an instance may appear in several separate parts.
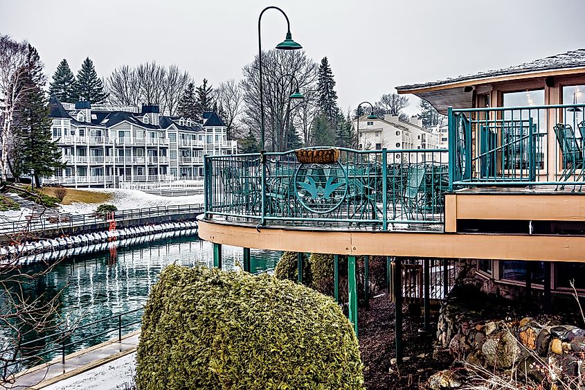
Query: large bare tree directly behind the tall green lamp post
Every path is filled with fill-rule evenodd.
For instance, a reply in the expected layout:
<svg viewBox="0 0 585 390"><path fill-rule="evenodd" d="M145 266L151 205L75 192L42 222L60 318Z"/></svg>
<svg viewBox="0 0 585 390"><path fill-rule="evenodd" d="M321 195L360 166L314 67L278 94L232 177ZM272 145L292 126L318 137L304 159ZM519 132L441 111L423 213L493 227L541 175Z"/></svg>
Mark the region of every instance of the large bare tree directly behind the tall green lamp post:
<svg viewBox="0 0 585 390"><path fill-rule="evenodd" d="M287 145L287 123L289 118L295 118L299 107L291 103L289 96L295 91L296 83L290 76L298 80L298 87L304 93L316 89L318 77L317 64L307 57L303 51L264 52L263 89L265 112L265 143L264 148L270 150L284 150ZM244 93L245 125L253 133L260 133L260 77L258 75L258 56L244 69L242 91Z"/></svg>

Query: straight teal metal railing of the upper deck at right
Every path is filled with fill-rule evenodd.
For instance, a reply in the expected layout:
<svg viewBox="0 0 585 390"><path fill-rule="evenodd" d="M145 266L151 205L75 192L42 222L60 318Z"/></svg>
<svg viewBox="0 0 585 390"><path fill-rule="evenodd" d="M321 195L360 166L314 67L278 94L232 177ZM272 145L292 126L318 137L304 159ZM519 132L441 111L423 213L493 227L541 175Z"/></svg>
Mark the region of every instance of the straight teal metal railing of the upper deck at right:
<svg viewBox="0 0 585 390"><path fill-rule="evenodd" d="M449 188L582 186L585 104L449 108Z"/></svg>

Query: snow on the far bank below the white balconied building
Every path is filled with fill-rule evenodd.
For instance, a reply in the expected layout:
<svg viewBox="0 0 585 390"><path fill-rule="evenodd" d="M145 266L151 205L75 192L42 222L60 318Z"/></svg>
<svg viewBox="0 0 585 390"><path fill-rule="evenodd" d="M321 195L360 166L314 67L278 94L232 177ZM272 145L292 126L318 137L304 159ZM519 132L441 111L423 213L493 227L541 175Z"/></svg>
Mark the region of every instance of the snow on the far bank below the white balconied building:
<svg viewBox="0 0 585 390"><path fill-rule="evenodd" d="M203 195L161 196L144 193L139 190L121 190L118 188L100 188L96 190L113 194L114 197L107 203L114 204L114 206L118 207L118 210L203 203ZM72 203L61 206L61 209L71 214L89 214L96 211L97 206L98 204Z"/></svg>

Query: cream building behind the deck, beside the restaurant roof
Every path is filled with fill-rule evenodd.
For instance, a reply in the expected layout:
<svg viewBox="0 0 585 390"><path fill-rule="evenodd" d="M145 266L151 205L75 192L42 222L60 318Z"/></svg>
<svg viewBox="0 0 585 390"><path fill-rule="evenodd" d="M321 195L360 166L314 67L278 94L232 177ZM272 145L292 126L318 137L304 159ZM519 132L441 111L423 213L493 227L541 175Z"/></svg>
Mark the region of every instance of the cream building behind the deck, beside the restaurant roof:
<svg viewBox="0 0 585 390"><path fill-rule="evenodd" d="M438 134L424 127L422 121L415 116L411 118L411 122L406 122L400 120L397 115L384 114L384 118L377 119L368 119L368 115L363 115L353 121L353 126L357 130L360 150L441 148ZM395 154L395 158L400 157ZM404 158L402 156L403 160Z"/></svg>

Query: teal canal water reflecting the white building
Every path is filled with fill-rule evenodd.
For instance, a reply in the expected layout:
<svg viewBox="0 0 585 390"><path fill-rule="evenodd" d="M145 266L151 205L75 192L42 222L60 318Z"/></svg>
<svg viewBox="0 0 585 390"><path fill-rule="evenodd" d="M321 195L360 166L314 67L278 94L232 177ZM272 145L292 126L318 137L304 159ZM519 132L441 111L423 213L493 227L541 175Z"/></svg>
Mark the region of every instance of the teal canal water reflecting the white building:
<svg viewBox="0 0 585 390"><path fill-rule="evenodd" d="M110 244L108 249L103 248L93 253L68 255L60 260L49 274L24 284L24 293L31 299L41 296L43 301L51 299L57 301L59 305L57 312L50 319L55 326L59 324L57 329L90 324L66 336L66 353L117 337L120 321L117 316L143 308L152 285L166 265L176 263L189 267L213 266L211 243L199 239L197 235L154 240L119 248ZM222 254L224 269L242 266L242 248L224 245ZM273 269L279 257L280 252L277 251L252 249L252 272ZM23 271L41 270L42 267L40 264L27 265ZM142 310L125 314L122 318L125 326L123 333L138 329L140 325L135 322L141 315ZM112 318L91 324L107 317ZM103 334L96 337L100 333ZM24 342L46 335L30 331ZM6 348L7 342L13 336L9 329L0 329L0 350ZM62 339L50 337L42 342L30 344L28 348L30 352L25 352L25 356L40 353L43 360L49 360L61 355ZM52 349L56 351L51 351ZM18 370L14 371L39 363L35 360L23 362L24 364L19 364Z"/></svg>

